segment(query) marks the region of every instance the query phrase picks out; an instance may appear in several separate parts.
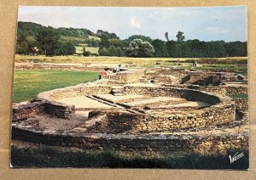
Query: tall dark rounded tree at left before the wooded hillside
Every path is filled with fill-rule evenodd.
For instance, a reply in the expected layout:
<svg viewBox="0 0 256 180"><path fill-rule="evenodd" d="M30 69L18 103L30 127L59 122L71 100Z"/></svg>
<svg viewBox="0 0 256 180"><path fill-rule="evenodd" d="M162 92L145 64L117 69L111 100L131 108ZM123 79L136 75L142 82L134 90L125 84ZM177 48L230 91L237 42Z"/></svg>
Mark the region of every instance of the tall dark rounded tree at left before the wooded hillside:
<svg viewBox="0 0 256 180"><path fill-rule="evenodd" d="M60 35L53 28L44 28L38 31L37 40L38 47L42 49L46 56L55 54L55 45L57 44Z"/></svg>

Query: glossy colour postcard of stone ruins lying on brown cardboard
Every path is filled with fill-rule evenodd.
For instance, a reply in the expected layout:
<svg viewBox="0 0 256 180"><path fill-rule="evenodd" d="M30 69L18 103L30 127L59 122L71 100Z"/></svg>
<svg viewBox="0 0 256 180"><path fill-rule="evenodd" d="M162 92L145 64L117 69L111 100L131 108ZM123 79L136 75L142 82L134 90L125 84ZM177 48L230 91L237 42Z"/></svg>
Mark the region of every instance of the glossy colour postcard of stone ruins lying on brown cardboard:
<svg viewBox="0 0 256 180"><path fill-rule="evenodd" d="M247 7L20 6L12 167L249 168Z"/></svg>

